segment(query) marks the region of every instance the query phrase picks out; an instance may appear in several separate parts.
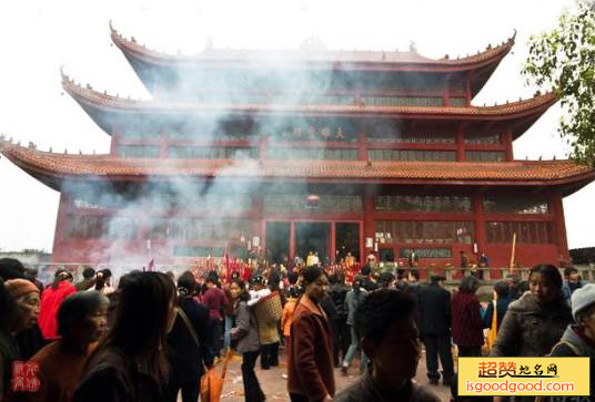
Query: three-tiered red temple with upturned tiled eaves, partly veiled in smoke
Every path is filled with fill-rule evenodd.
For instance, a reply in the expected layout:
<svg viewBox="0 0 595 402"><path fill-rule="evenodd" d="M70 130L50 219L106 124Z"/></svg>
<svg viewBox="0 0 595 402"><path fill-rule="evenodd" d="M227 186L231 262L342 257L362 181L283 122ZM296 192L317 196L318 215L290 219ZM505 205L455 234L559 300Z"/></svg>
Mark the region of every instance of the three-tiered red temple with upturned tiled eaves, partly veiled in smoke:
<svg viewBox="0 0 595 402"><path fill-rule="evenodd" d="M317 251L421 266L557 264L568 246L562 199L595 172L517 161L513 142L552 93L473 104L514 37L464 58L409 51L221 50L167 54L111 28L152 94L64 91L111 136L103 155L1 153L61 192L53 259L181 264L275 261ZM554 130L554 127L552 127ZM546 134L546 133L543 133Z"/></svg>

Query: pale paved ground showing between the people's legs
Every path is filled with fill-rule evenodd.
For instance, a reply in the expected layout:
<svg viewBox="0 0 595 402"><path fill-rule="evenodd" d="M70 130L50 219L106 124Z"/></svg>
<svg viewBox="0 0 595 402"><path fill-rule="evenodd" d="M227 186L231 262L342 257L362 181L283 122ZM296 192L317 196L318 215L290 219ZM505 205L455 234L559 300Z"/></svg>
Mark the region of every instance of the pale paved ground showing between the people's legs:
<svg viewBox="0 0 595 402"><path fill-rule="evenodd" d="M260 362L256 362L256 377L259 378L263 392L266 394L268 401L289 401L288 392L285 390L286 380L284 380L282 377L282 374L285 372L285 358L283 354L280 355L280 360L281 365L279 368L272 368L271 370L261 370ZM235 355L233 357L232 362L228 368L228 375L223 385L223 401L231 402L244 400L242 372L240 370L241 361L242 358ZM219 364L219 368L220 367L221 364ZM337 390L346 388L351 382L357 379L357 367L359 362L354 361L350 370L349 377L343 377L339 370L335 371L335 381L337 384ZM425 377L425 355L422 355L422 359L420 360L415 381L422 385L428 386L435 394L440 396L442 401L450 400L450 388L442 385L442 383L440 385L430 385L427 383L427 378Z"/></svg>

